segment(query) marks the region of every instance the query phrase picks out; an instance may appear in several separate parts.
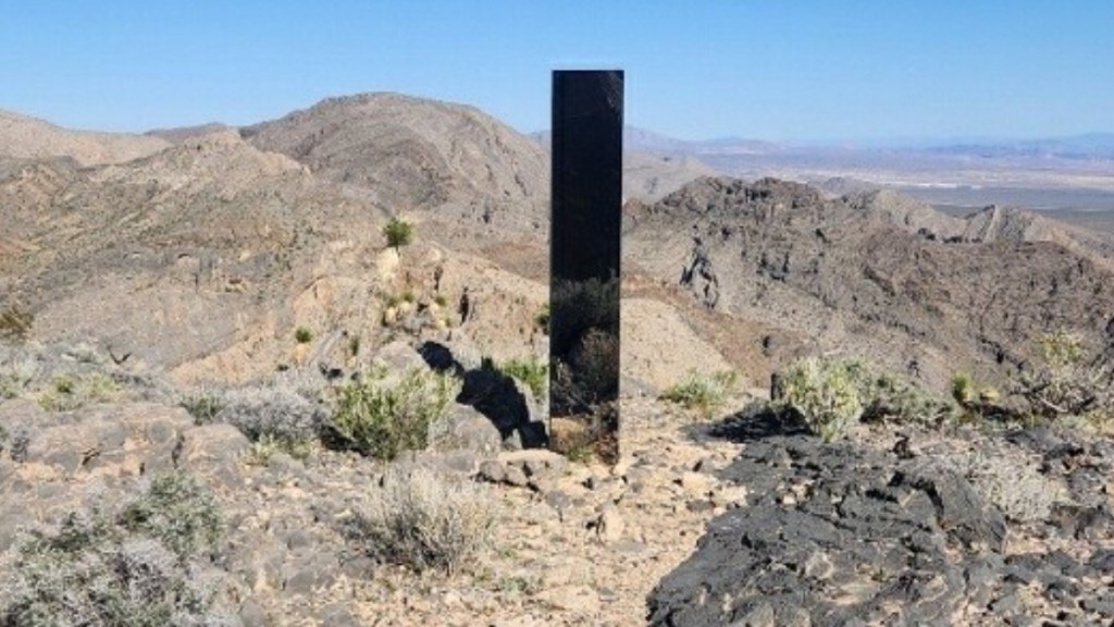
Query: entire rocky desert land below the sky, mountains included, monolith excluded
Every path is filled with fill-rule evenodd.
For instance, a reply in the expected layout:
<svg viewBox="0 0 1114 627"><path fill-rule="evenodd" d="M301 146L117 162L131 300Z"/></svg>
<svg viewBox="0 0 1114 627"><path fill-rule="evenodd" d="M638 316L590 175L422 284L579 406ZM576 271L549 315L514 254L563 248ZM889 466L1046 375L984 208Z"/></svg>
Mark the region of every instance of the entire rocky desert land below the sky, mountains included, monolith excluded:
<svg viewBox="0 0 1114 627"><path fill-rule="evenodd" d="M605 464L547 423L547 142L0 112L0 626L1114 625L1104 144L631 129Z"/></svg>

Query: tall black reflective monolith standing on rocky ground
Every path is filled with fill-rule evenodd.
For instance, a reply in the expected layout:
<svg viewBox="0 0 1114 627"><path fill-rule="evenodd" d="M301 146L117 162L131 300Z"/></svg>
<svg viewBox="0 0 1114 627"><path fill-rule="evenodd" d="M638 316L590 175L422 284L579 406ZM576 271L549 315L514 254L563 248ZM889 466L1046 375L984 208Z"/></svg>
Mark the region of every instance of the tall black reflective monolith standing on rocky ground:
<svg viewBox="0 0 1114 627"><path fill-rule="evenodd" d="M550 447L614 463L623 71L557 70L553 97Z"/></svg>

